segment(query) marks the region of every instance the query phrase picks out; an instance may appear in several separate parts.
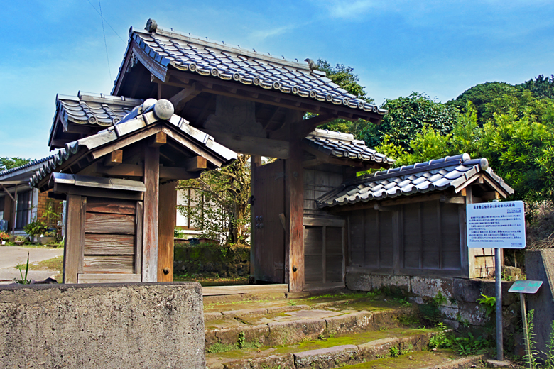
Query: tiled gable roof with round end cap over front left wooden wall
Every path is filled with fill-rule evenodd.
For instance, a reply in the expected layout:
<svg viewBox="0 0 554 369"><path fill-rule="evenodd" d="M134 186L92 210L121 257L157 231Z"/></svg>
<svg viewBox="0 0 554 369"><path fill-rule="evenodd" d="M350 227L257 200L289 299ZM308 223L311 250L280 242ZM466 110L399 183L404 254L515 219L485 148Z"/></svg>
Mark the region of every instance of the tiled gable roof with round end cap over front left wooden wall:
<svg viewBox="0 0 554 369"><path fill-rule="evenodd" d="M158 118L155 114L156 104L164 106L163 109L170 106L170 114L168 114L166 118ZM166 109L165 111L169 110ZM200 144L207 148L207 150L210 150L210 152L215 153L222 158L224 164L230 163L232 160L237 158L237 153L234 153L234 151L229 150L219 143L216 143L212 136L200 131L197 128L189 126L189 122L187 120L173 114L173 105L170 101L163 99L160 101L156 99L147 99L142 105L136 106L127 116L124 117L124 119L116 123L114 126L109 127L104 131L99 131L92 136L81 138L80 140L73 141L71 143L66 143L65 148L58 150L57 154L47 158L43 167L41 167L40 170L37 170L33 177L31 177L31 187L37 186L38 183L50 175L50 173L55 170L59 170L63 163L78 152L99 148L107 143L118 140L122 136L126 136L129 133L133 133L134 131L160 120L168 121L178 127L186 136L189 136L195 141L199 141Z"/></svg>

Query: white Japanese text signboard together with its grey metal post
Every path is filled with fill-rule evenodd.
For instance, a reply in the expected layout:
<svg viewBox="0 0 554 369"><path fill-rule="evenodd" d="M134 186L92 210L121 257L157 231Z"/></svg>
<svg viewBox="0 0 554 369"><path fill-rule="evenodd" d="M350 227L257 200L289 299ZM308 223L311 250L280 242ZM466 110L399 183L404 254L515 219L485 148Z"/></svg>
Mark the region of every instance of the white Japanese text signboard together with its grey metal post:
<svg viewBox="0 0 554 369"><path fill-rule="evenodd" d="M494 248L496 280L496 358L504 360L502 339L501 248L525 248L523 202L467 204L467 247Z"/></svg>

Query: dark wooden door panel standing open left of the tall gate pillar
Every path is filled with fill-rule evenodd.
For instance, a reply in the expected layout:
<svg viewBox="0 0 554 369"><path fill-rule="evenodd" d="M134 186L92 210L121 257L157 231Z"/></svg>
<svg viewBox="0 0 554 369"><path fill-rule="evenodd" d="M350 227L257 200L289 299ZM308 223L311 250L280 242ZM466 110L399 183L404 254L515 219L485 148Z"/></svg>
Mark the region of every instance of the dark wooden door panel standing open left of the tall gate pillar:
<svg viewBox="0 0 554 369"><path fill-rule="evenodd" d="M283 160L256 167L254 177L254 277L256 281L285 282L285 213Z"/></svg>

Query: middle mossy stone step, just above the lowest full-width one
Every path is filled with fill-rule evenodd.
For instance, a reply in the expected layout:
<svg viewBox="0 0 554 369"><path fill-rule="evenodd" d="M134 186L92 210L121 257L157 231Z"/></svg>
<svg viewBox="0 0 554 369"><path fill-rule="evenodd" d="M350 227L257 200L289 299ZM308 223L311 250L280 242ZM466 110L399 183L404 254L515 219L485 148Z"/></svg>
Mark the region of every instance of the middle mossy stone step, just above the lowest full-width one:
<svg viewBox="0 0 554 369"><path fill-rule="evenodd" d="M293 308L293 307L285 307ZM278 309L261 317L257 311L225 312L219 320L205 321L206 348L216 343L234 345L243 340L266 346L288 345L318 337L338 336L399 326L398 316L415 314L413 308L366 310ZM261 312L260 312L261 313ZM284 313L284 314L283 314ZM212 314L212 313L205 313ZM252 315L254 314L254 315ZM276 316L276 314L282 314ZM283 316L285 315L285 316ZM229 317L233 319L229 319ZM254 316L254 317L253 317Z"/></svg>

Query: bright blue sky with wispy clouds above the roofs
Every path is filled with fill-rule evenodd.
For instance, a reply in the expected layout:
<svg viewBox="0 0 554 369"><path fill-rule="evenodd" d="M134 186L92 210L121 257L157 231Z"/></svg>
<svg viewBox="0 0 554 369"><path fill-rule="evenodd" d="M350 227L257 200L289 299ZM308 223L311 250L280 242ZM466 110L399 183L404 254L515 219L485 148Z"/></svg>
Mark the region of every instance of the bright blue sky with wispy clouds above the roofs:
<svg viewBox="0 0 554 369"><path fill-rule="evenodd" d="M290 60L353 67L383 104L412 92L445 102L479 83L553 74L553 13L554 1L533 0L0 0L0 157L51 155L56 94L109 94L129 28L148 18Z"/></svg>

